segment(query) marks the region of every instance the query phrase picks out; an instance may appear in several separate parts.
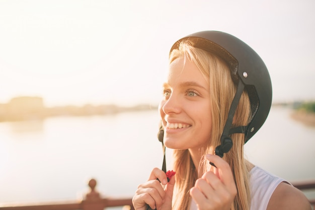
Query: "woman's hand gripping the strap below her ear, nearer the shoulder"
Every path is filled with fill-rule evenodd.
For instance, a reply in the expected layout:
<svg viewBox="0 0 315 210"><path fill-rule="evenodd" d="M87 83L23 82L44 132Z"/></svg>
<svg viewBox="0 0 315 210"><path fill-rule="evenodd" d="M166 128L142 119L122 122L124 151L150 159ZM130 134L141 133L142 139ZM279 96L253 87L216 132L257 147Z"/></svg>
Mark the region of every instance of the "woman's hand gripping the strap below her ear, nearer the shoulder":
<svg viewBox="0 0 315 210"><path fill-rule="evenodd" d="M237 187L228 163L216 155L207 155L207 159L216 166L214 172L208 171L197 179L190 189L190 195L198 209L230 209L237 194Z"/></svg>

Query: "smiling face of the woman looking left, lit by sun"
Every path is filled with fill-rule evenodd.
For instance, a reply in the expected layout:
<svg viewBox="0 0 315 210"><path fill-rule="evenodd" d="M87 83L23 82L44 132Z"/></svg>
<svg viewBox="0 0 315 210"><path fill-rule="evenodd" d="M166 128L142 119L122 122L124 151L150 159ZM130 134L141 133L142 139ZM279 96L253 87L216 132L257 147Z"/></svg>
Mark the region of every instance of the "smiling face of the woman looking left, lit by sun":
<svg viewBox="0 0 315 210"><path fill-rule="evenodd" d="M164 144L171 149L199 149L210 138L212 120L209 81L197 66L180 57L169 67L159 110Z"/></svg>

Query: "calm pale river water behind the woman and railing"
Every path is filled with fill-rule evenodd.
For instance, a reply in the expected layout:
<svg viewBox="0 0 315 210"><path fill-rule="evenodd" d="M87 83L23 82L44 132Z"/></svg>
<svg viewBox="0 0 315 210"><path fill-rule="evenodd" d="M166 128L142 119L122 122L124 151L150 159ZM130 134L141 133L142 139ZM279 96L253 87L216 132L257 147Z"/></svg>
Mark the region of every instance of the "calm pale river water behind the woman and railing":
<svg viewBox="0 0 315 210"><path fill-rule="evenodd" d="M288 181L314 180L315 128L291 111L272 107L245 153ZM90 178L103 196L132 196L162 166L158 121L152 110L0 123L0 204L81 199Z"/></svg>

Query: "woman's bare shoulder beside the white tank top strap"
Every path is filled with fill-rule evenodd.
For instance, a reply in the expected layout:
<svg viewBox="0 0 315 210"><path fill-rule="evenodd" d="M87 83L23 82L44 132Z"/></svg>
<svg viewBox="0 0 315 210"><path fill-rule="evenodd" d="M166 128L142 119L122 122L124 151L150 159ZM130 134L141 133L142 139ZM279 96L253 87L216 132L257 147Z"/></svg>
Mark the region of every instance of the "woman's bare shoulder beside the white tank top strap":
<svg viewBox="0 0 315 210"><path fill-rule="evenodd" d="M310 203L302 191L290 184L281 182L273 192L267 210L310 210Z"/></svg>

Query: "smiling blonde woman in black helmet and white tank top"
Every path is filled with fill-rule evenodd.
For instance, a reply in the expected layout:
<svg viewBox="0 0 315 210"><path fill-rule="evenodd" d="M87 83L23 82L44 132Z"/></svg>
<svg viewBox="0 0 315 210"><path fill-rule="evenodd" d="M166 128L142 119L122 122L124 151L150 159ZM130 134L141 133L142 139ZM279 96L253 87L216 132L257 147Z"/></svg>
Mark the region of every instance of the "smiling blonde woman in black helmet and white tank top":
<svg viewBox="0 0 315 210"><path fill-rule="evenodd" d="M176 174L168 182L154 168L133 197L135 209L310 209L301 191L243 157L272 98L252 48L217 31L184 37L171 48L163 87L163 143L174 149Z"/></svg>

